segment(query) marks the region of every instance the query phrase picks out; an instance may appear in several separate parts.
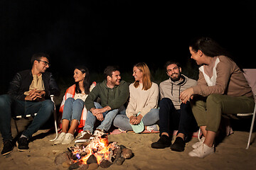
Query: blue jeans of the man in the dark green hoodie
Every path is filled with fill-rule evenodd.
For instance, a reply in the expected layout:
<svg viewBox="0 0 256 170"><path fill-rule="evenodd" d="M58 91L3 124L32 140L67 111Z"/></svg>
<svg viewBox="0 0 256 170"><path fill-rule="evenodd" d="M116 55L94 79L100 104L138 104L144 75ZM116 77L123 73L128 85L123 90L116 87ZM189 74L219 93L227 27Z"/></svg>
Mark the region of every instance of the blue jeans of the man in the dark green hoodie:
<svg viewBox="0 0 256 170"><path fill-rule="evenodd" d="M95 102L95 108L103 108L100 103ZM104 120L102 123L97 127L97 129L108 131L110 130L110 127L112 125L112 121L114 120L114 117L119 112L119 109L114 109L111 111L106 111L105 113L102 113ZM90 132L93 132L94 124L96 122L97 118L95 115L92 115L90 111L87 112L87 118L85 120L85 127L83 128L83 131L88 130Z"/></svg>

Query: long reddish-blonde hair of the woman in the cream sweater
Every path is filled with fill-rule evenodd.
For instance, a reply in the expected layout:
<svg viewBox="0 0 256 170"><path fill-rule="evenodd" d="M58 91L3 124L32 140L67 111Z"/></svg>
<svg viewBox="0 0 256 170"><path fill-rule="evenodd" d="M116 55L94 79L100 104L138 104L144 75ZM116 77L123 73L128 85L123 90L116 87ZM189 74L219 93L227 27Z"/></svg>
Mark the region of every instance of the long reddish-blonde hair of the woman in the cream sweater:
<svg viewBox="0 0 256 170"><path fill-rule="evenodd" d="M137 67L140 72L143 74L142 78L142 90L148 90L152 86L151 74L149 71L149 67L144 62L139 62L135 64L134 67ZM134 87L137 88L139 86L139 81L134 81Z"/></svg>

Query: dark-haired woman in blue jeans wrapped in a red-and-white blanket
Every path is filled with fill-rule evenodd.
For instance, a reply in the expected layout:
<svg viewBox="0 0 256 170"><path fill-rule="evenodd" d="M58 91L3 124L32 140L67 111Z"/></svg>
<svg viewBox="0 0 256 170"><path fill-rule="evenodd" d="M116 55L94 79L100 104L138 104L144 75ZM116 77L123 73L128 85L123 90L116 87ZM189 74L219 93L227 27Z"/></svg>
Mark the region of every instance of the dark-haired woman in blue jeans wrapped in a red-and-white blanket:
<svg viewBox="0 0 256 170"><path fill-rule="evenodd" d="M60 113L62 115L62 132L54 141L54 144L69 144L74 139L75 129L80 124L80 118L86 118L87 110L85 106L85 98L95 87L95 82L90 84L90 75L87 67L78 66L74 71L75 84L70 86L60 105ZM85 121L85 120L84 120ZM70 128L69 128L70 125ZM69 129L68 129L69 128Z"/></svg>

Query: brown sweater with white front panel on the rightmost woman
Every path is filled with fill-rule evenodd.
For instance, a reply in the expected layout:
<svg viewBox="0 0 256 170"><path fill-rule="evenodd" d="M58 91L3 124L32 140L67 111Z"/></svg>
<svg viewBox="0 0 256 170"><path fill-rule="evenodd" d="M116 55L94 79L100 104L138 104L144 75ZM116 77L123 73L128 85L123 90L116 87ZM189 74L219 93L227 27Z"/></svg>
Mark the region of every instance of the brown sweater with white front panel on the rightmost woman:
<svg viewBox="0 0 256 170"><path fill-rule="evenodd" d="M215 70L207 72L208 67ZM252 96L252 89L237 64L223 55L218 56L213 64L199 68L198 84L193 86L193 91L194 94L201 96L209 96L210 94Z"/></svg>

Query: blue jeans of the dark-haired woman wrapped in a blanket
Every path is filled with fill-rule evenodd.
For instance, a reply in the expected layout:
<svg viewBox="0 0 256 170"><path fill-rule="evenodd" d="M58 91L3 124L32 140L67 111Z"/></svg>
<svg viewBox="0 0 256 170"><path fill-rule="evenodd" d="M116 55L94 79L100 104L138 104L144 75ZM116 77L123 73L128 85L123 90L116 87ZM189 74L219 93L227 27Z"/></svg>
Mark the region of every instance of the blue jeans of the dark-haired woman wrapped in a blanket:
<svg viewBox="0 0 256 170"><path fill-rule="evenodd" d="M79 98L76 100L74 98L68 98L64 104L62 120L66 119L71 121L75 119L80 123L84 103L85 102Z"/></svg>

